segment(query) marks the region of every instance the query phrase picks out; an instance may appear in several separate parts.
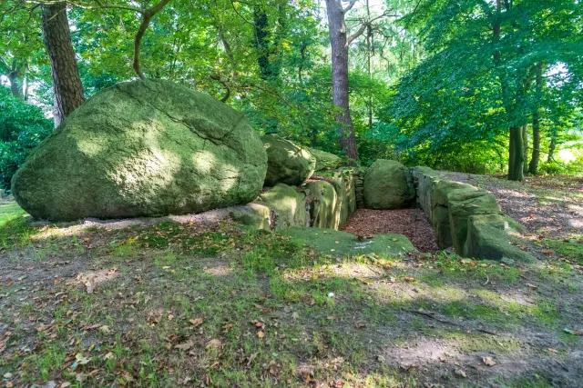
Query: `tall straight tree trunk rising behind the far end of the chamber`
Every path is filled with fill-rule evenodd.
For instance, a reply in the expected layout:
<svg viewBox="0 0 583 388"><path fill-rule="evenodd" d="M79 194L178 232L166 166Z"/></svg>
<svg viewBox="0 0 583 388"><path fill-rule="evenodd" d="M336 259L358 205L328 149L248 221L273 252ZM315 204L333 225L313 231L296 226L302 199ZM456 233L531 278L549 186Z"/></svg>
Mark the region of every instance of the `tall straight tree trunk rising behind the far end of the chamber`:
<svg viewBox="0 0 583 388"><path fill-rule="evenodd" d="M332 48L332 102L340 125L340 147L354 162L358 161L356 134L348 101L348 39L341 2L326 0L330 45Z"/></svg>

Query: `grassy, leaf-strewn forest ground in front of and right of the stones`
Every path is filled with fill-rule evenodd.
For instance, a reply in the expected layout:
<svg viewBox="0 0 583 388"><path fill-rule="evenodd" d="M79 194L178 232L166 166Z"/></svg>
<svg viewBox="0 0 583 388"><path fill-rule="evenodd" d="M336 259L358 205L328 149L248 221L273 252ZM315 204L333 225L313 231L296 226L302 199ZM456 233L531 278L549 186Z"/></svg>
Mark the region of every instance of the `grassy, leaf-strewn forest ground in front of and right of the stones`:
<svg viewBox="0 0 583 388"><path fill-rule="evenodd" d="M492 191L541 260L40 226L0 202L0 386L581 386L581 182L451 176Z"/></svg>

